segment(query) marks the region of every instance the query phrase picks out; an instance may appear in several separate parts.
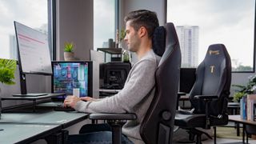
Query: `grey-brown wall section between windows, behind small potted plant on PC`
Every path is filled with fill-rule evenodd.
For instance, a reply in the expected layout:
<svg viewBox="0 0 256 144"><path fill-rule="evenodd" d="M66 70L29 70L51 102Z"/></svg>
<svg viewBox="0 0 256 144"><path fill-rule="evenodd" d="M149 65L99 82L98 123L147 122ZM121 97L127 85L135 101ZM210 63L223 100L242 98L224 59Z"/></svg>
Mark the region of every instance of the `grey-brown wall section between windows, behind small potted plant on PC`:
<svg viewBox="0 0 256 144"><path fill-rule="evenodd" d="M57 60L64 60L65 42L74 42L74 55L80 60L90 59L94 47L93 0L57 0Z"/></svg>

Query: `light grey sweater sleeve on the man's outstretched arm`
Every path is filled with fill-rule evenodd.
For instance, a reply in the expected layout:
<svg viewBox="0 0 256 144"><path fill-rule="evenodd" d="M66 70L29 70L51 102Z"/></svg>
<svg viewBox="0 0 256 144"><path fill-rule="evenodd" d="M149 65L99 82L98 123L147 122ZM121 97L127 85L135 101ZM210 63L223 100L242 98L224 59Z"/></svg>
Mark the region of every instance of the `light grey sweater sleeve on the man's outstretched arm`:
<svg viewBox="0 0 256 144"><path fill-rule="evenodd" d="M156 68L156 62L143 59L130 70L130 78L118 94L109 98L102 98L100 101L79 101L74 109L86 113L134 112L134 106L141 102L153 88Z"/></svg>

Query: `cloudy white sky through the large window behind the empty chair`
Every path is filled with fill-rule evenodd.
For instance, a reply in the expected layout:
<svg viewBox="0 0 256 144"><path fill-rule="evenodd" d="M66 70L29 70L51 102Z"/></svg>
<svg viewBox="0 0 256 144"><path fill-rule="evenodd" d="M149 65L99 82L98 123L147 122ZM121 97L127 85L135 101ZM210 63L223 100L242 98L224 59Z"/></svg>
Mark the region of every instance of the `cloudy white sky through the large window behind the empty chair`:
<svg viewBox="0 0 256 144"><path fill-rule="evenodd" d="M199 26L199 62L208 46L223 43L231 59L252 66L254 6L254 0L167 0L167 22Z"/></svg>

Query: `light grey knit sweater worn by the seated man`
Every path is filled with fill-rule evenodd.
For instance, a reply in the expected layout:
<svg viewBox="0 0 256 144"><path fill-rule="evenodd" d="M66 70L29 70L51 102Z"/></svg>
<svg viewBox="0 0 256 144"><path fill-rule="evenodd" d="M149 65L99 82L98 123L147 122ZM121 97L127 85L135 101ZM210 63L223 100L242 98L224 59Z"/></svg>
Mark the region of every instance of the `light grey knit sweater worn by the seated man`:
<svg viewBox="0 0 256 144"><path fill-rule="evenodd" d="M94 102L79 101L74 109L86 113L134 113L137 120L126 122L122 134L134 143L142 143L139 129L154 97L154 73L159 61L160 57L150 50L134 64L118 94Z"/></svg>

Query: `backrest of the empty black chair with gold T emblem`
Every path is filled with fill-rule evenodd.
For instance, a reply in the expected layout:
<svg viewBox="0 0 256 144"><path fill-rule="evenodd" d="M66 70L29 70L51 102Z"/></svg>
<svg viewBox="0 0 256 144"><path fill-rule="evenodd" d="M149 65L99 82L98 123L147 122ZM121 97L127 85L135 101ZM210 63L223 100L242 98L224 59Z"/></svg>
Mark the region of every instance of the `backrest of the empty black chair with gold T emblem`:
<svg viewBox="0 0 256 144"><path fill-rule="evenodd" d="M225 114L230 95L231 61L226 47L222 44L210 45L206 57L196 70L196 81L190 91L190 102L195 114L205 114L205 104L195 95L217 95L210 102L210 114Z"/></svg>

